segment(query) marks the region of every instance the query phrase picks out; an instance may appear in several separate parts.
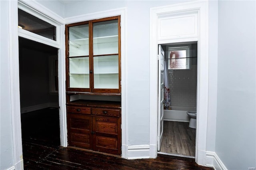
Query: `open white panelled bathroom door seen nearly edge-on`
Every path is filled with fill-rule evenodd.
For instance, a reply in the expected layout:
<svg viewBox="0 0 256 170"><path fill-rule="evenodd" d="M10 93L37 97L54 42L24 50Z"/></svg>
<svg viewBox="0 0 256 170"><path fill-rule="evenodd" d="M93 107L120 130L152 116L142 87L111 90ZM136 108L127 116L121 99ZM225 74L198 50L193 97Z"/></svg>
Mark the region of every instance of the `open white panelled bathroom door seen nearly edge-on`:
<svg viewBox="0 0 256 170"><path fill-rule="evenodd" d="M164 133L164 50L158 45L158 136L157 148L161 148Z"/></svg>

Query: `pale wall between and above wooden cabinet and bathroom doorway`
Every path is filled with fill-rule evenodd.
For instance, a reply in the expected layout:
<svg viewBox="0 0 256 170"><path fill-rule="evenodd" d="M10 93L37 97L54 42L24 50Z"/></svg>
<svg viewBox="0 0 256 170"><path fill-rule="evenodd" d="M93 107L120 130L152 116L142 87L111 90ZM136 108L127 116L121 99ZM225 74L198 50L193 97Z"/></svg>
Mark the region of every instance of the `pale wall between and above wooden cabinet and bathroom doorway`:
<svg viewBox="0 0 256 170"><path fill-rule="evenodd" d="M65 6L65 17L127 7L128 146L150 140L150 16L152 7L185 1L84 1ZM97 8L95 8L97 6Z"/></svg>

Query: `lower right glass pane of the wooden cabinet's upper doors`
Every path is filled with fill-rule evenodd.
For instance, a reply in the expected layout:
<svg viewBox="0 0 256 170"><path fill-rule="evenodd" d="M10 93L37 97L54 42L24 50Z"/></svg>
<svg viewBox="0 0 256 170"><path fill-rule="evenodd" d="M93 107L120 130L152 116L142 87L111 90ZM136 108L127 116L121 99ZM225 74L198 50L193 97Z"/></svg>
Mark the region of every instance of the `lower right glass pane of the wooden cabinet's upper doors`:
<svg viewBox="0 0 256 170"><path fill-rule="evenodd" d="M118 89L118 55L93 57L94 89Z"/></svg>

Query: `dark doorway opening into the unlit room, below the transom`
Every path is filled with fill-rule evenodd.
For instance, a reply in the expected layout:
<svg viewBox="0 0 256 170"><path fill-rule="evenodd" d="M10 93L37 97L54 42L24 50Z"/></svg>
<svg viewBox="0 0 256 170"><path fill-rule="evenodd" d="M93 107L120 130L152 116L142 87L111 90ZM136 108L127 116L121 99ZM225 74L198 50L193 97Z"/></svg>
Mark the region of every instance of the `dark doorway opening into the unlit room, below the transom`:
<svg viewBox="0 0 256 170"><path fill-rule="evenodd" d="M58 49L19 37L19 69L26 167L60 146Z"/></svg>

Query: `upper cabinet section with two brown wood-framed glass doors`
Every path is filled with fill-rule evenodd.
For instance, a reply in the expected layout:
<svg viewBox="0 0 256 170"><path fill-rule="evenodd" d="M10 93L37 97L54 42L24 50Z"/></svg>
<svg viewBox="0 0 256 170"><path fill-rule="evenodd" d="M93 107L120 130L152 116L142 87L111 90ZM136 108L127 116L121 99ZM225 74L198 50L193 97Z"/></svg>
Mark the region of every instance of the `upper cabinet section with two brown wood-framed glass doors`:
<svg viewBox="0 0 256 170"><path fill-rule="evenodd" d="M120 93L120 16L66 25L66 91Z"/></svg>

